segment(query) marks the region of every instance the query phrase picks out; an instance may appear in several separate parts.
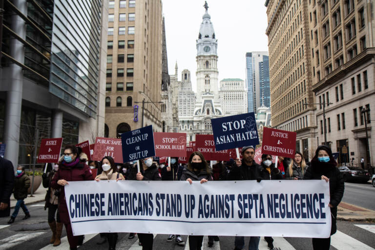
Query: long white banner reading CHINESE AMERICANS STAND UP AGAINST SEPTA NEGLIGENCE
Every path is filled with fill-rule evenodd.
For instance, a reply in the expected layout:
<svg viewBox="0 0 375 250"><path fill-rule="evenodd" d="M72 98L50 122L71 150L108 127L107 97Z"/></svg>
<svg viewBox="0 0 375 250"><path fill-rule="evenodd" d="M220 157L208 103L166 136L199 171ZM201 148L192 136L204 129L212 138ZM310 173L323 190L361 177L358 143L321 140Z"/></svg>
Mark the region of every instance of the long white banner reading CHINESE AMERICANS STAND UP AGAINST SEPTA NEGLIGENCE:
<svg viewBox="0 0 375 250"><path fill-rule="evenodd" d="M329 184L309 181L69 182L74 235L141 232L326 238Z"/></svg>

